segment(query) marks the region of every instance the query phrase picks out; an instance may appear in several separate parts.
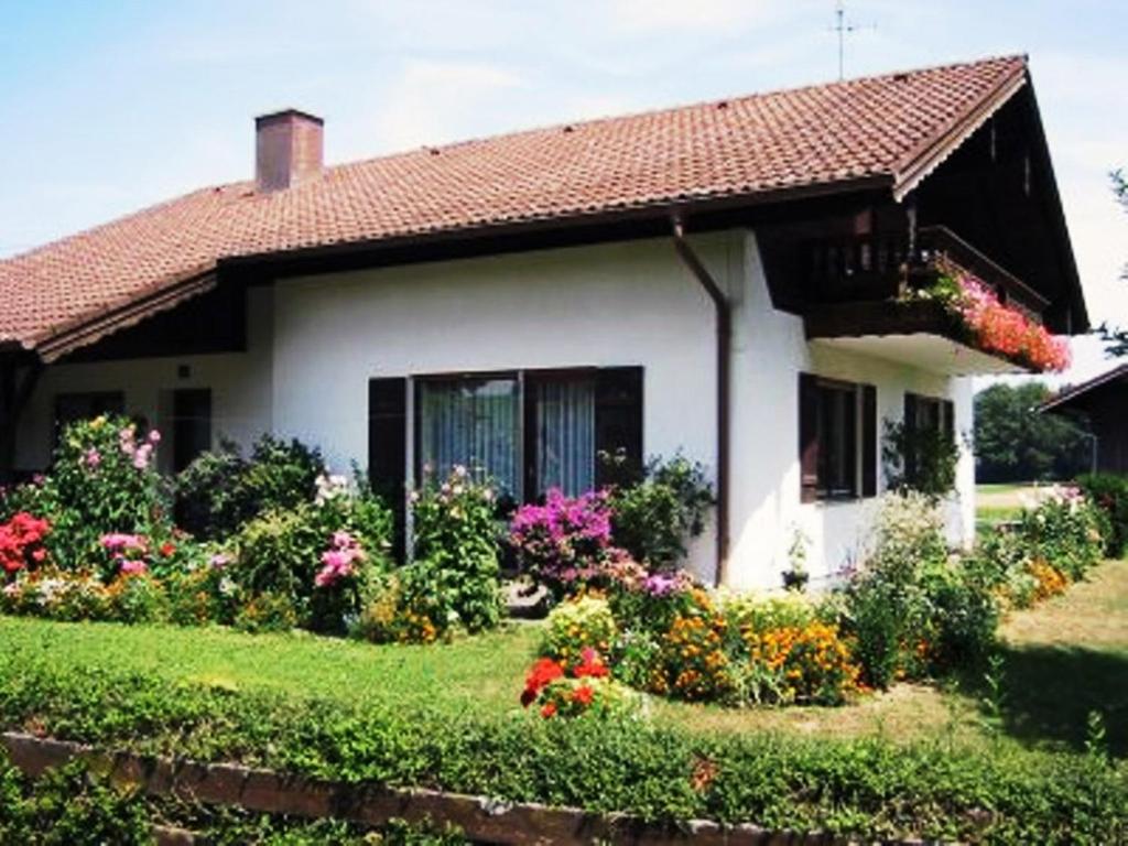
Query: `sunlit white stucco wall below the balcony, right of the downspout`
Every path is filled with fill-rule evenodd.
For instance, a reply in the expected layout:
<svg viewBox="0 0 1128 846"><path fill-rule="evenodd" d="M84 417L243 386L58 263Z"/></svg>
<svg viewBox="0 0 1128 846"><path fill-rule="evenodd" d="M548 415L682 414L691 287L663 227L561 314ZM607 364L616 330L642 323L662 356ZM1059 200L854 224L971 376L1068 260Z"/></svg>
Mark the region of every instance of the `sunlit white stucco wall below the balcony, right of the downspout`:
<svg viewBox="0 0 1128 846"><path fill-rule="evenodd" d="M969 379L926 372L881 359L808 343L801 318L772 308L756 237L743 241L742 273L732 290L733 444L731 557L734 587L778 588L796 530L809 539L812 584L864 558L878 500L802 503L799 465L799 373L811 372L878 389L879 435L884 420L904 417L905 393L955 403L958 431L971 428ZM879 473L879 493L884 479ZM964 449L958 495L948 505L949 539L969 543L975 531L975 465Z"/></svg>

